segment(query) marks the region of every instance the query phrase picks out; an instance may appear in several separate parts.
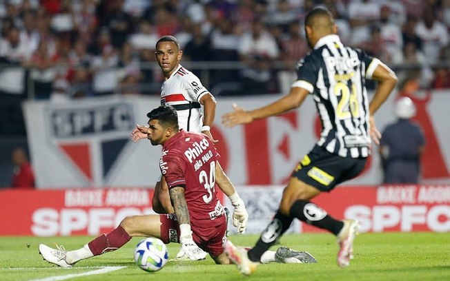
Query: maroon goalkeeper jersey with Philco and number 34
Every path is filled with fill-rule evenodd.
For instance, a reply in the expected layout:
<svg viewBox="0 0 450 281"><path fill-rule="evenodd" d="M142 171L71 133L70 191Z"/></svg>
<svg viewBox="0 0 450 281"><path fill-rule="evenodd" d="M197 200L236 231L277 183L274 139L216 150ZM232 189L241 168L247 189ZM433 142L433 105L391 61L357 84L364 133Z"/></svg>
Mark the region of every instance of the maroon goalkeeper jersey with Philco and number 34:
<svg viewBox="0 0 450 281"><path fill-rule="evenodd" d="M215 227L222 223L216 220L224 215L215 185L219 157L213 143L202 133L181 130L163 145L159 168L169 189L184 187L190 225Z"/></svg>

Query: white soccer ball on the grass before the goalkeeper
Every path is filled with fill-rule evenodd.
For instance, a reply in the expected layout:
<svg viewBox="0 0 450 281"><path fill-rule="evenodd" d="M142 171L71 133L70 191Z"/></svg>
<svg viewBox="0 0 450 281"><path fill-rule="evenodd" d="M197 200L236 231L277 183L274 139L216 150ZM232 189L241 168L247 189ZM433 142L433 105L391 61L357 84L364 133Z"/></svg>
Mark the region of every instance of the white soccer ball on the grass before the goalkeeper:
<svg viewBox="0 0 450 281"><path fill-rule="evenodd" d="M166 244L158 238L146 238L137 244L135 262L138 267L148 272L162 269L168 260Z"/></svg>

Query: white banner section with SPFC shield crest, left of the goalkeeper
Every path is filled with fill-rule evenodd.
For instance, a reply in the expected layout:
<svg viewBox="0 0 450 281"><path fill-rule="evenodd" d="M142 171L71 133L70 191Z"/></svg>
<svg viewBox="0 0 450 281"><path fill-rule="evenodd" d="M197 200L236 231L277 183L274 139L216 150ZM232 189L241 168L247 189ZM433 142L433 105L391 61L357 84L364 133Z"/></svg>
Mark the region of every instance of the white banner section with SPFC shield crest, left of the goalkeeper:
<svg viewBox="0 0 450 281"><path fill-rule="evenodd" d="M63 104L26 103L28 143L37 185L120 187L142 186L144 182L153 186L157 165L143 161L133 165L132 159L142 153L154 158L151 163L157 163L161 149L146 140L131 142L130 132L137 123L145 124L146 112L156 106L153 99L121 97ZM143 181L150 171L155 179L150 176L151 181Z"/></svg>

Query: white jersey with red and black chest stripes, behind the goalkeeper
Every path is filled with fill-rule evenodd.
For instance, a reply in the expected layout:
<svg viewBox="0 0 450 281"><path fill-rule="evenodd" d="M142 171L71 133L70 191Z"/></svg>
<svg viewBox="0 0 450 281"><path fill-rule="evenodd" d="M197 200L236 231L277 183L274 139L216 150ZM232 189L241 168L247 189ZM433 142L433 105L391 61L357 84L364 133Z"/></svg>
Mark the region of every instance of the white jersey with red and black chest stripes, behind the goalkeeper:
<svg viewBox="0 0 450 281"><path fill-rule="evenodd" d="M161 104L175 107L180 129L186 132L202 132L203 110L199 100L208 93L195 74L178 65L169 79L162 84Z"/></svg>

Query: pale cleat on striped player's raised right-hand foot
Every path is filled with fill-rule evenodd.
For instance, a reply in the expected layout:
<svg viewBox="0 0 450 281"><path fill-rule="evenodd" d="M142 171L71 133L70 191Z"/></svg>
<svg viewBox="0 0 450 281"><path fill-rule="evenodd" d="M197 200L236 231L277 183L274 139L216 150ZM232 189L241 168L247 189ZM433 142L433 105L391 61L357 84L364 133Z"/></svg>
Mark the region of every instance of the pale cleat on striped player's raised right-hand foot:
<svg viewBox="0 0 450 281"><path fill-rule="evenodd" d="M353 241L358 235L360 224L356 220L344 220L344 227L337 234L339 251L337 252L337 264L340 267L348 267L353 259Z"/></svg>

